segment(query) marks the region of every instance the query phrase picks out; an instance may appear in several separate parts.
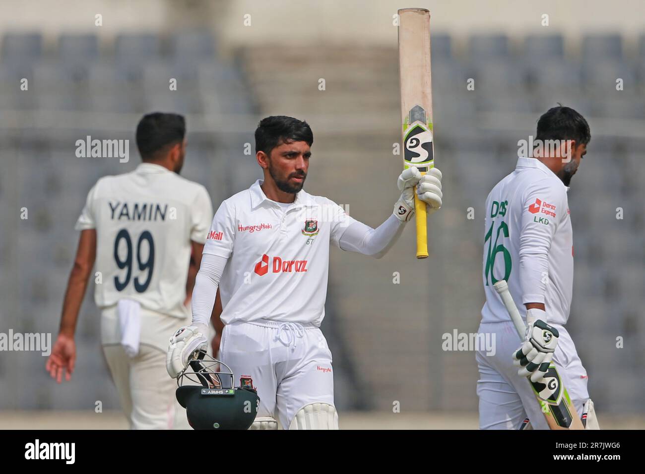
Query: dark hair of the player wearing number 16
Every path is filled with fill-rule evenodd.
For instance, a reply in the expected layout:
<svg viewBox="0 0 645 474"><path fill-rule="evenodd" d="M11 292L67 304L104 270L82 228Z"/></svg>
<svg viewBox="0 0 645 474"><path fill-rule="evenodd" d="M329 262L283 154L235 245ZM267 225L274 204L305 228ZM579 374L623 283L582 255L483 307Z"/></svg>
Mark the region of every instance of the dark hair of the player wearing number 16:
<svg viewBox="0 0 645 474"><path fill-rule="evenodd" d="M537 121L536 140L575 140L576 144L588 144L591 140L589 124L570 107L558 103Z"/></svg>

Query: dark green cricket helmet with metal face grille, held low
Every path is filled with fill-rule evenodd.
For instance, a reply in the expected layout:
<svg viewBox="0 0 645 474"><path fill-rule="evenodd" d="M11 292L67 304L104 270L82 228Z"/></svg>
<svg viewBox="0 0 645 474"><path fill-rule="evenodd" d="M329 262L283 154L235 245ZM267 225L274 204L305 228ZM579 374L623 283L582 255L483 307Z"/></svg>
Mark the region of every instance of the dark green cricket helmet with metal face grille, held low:
<svg viewBox="0 0 645 474"><path fill-rule="evenodd" d="M190 426L194 430L248 430L260 404L257 391L250 386L235 388L230 367L205 351L196 350L191 358L177 377L175 392Z"/></svg>

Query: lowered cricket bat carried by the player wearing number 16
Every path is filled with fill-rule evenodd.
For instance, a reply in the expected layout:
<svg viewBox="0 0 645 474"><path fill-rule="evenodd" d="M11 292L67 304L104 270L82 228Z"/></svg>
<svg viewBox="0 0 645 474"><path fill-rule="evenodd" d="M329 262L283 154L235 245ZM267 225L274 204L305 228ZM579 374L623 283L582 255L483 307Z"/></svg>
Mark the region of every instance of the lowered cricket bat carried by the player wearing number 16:
<svg viewBox="0 0 645 474"><path fill-rule="evenodd" d="M513 324L515 325L515 330L517 330L520 340L524 341L526 326L524 326L524 321L522 321L522 317L519 311L517 311L517 306L515 306L513 297L511 296L510 291L508 291L506 280L500 280L493 286L495 287L495 291L497 291L499 296L502 298L502 302L504 302L504 306L506 306L506 310L511 317L511 321L513 321ZM551 430L584 430L582 421L578 418L575 407L569 398L569 393L566 391L564 384L562 384L560 375L553 362L551 362L549 370L546 372L546 375L544 375L544 378L547 380L546 386L538 382L531 382L530 379L527 380L531 384L531 388L533 388L535 398L537 398L537 401L540 403L542 414L544 415L549 428ZM548 398L545 398L540 395L540 393L547 387L550 390L555 389L555 391L553 391L553 394Z"/></svg>

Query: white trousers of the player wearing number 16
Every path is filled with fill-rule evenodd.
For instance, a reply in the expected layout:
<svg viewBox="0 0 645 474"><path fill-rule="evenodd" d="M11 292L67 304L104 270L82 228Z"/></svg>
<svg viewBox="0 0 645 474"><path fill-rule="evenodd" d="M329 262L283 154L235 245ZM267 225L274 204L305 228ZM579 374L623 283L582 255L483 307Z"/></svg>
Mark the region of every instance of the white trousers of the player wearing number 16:
<svg viewBox="0 0 645 474"><path fill-rule="evenodd" d="M587 371L567 330L555 324L553 327L559 331L553 362L580 417L582 405L589 399ZM528 418L534 430L548 430L533 389L526 377L517 375L518 368L513 365L512 354L521 344L513 323L482 323L478 332L495 334L495 355L486 355L486 350L476 353L479 368L479 428L517 430L522 421Z"/></svg>

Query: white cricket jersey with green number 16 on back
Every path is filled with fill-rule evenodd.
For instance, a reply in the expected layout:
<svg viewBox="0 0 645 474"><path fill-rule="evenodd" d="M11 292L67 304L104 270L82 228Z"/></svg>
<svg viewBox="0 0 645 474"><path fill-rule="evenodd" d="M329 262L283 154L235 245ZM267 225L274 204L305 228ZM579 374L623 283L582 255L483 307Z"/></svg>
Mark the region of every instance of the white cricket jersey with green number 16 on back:
<svg viewBox="0 0 645 474"><path fill-rule="evenodd" d="M566 324L573 290L573 233L567 191L541 161L519 158L486 199L482 322L510 316L493 288L506 279L522 316L525 303L546 307L550 324Z"/></svg>

